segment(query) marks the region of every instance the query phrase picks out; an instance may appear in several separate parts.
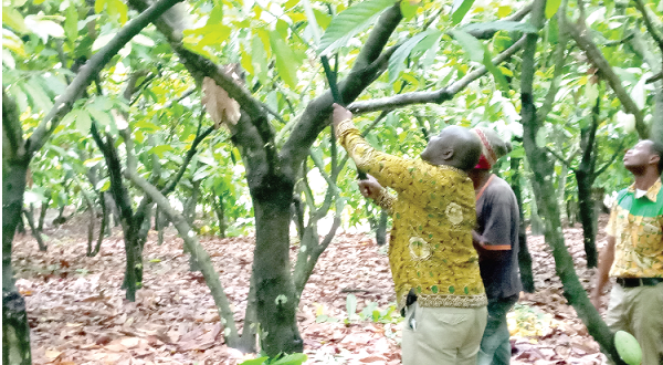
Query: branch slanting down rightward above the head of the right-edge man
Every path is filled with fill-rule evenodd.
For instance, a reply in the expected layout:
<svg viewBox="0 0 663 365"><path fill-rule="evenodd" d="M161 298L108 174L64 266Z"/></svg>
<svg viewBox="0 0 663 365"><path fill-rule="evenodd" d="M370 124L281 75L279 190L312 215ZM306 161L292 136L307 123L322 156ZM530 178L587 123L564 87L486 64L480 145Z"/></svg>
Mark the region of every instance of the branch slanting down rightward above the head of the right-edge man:
<svg viewBox="0 0 663 365"><path fill-rule="evenodd" d="M621 102L624 111L627 113L633 114L635 116L635 129L638 131L638 135L641 138L648 138L649 128L644 124L644 116L642 115L642 111L635 105L631 95L627 92L624 86L621 83L619 76L608 63L608 60L603 56L603 53L599 50L599 48L589 39L586 33L581 33L578 28L568 19L564 18L564 23L560 24L564 27L569 34L573 38L578 46L587 54L587 59L591 62L594 67L599 69L599 74L603 80L608 82L619 101Z"/></svg>

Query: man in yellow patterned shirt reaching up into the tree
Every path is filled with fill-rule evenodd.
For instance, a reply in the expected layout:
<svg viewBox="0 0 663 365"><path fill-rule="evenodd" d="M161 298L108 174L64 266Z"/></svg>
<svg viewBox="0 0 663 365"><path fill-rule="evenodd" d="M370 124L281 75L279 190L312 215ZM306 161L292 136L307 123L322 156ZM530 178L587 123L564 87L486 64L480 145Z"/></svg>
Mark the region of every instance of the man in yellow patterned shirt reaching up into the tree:
<svg viewBox="0 0 663 365"><path fill-rule="evenodd" d="M421 159L410 160L375 150L352 114L334 107L336 136L357 168L398 194L375 198L393 217L389 264L406 313L403 364L476 365L487 299L472 246L476 212L466 171L478 161L481 142L466 128L446 127Z"/></svg>

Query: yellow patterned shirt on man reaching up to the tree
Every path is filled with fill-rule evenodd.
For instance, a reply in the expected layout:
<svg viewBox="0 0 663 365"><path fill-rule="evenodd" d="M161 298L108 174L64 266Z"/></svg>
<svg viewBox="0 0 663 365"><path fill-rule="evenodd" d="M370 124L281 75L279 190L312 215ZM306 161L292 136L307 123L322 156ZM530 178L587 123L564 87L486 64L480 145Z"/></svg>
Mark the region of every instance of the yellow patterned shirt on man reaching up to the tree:
<svg viewBox="0 0 663 365"><path fill-rule="evenodd" d="M389 201L389 263L399 310L411 289L422 306L486 305L472 246L476 212L467 175L375 150L349 119L337 126L336 135L359 169L398 194Z"/></svg>

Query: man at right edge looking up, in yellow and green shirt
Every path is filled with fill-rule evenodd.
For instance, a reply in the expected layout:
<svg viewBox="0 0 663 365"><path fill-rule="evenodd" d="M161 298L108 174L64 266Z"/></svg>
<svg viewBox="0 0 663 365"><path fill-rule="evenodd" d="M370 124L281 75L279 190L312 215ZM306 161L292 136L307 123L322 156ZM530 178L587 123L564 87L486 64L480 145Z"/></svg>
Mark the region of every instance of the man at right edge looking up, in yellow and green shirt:
<svg viewBox="0 0 663 365"><path fill-rule="evenodd" d="M591 301L598 309L608 277L606 322L631 333L642 346L642 365L663 364L663 145L641 140L624 156L635 182L619 192L606 231Z"/></svg>

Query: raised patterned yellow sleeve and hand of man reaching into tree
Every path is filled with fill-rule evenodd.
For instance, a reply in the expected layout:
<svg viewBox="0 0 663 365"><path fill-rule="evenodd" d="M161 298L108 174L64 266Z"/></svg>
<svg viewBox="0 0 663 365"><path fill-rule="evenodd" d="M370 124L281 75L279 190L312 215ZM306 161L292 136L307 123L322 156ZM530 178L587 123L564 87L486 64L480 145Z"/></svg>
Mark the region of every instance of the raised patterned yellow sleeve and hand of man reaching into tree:
<svg viewBox="0 0 663 365"><path fill-rule="evenodd" d="M340 122L336 126L338 143L345 147L355 160L357 168L372 175L382 186L394 189L398 194L418 191L412 186L412 180L428 180L430 176L421 168L421 161L410 160L373 149L355 127L350 119ZM421 187L419 187L421 188ZM419 191L421 192L421 191Z"/></svg>

